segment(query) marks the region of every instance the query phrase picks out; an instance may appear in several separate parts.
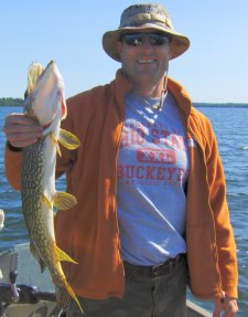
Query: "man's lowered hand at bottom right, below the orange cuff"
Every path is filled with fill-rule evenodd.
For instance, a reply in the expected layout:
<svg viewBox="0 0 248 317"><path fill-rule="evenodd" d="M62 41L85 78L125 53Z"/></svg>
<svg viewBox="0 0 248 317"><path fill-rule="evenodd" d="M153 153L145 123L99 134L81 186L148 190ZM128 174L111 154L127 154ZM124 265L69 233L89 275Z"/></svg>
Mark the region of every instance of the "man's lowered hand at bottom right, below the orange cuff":
<svg viewBox="0 0 248 317"><path fill-rule="evenodd" d="M223 317L235 316L238 313L237 300L229 297L216 298L213 317L219 317L222 311L224 311Z"/></svg>

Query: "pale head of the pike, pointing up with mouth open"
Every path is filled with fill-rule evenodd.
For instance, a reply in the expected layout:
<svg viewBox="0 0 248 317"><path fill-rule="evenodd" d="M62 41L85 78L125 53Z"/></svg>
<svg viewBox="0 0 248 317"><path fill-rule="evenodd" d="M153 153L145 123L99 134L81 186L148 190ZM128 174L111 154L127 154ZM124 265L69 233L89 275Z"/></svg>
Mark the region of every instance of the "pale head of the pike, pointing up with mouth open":
<svg viewBox="0 0 248 317"><path fill-rule="evenodd" d="M55 118L66 117L64 81L55 62L51 61L45 70L39 63L31 64L25 94L24 114L41 126L47 127Z"/></svg>

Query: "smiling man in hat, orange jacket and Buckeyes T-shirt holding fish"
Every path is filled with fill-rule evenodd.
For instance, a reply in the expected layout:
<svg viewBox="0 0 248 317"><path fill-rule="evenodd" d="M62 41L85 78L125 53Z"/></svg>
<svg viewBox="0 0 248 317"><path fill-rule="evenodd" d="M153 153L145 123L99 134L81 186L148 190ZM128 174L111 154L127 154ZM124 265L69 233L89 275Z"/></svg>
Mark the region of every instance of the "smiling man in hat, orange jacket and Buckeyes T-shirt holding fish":
<svg viewBox="0 0 248 317"><path fill-rule="evenodd" d="M185 316L186 284L237 313L237 258L223 167L209 121L168 78L190 46L159 4L127 8L103 46L121 62L116 80L68 99L63 126L82 140L57 160L77 198L56 216L64 265L86 316ZM7 117L6 173L20 189L21 148L41 137ZM186 256L185 256L186 254ZM187 265L188 272L187 272ZM80 316L72 303L67 316Z"/></svg>

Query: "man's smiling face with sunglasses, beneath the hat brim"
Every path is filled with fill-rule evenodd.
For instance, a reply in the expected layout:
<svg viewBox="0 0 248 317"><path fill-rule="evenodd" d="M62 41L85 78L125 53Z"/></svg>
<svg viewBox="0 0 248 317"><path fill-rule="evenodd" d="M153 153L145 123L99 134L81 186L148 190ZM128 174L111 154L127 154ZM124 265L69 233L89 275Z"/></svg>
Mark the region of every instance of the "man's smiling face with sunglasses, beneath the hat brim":
<svg viewBox="0 0 248 317"><path fill-rule="evenodd" d="M122 70L134 86L160 83L171 57L169 42L164 34L155 32L122 35L118 42Z"/></svg>

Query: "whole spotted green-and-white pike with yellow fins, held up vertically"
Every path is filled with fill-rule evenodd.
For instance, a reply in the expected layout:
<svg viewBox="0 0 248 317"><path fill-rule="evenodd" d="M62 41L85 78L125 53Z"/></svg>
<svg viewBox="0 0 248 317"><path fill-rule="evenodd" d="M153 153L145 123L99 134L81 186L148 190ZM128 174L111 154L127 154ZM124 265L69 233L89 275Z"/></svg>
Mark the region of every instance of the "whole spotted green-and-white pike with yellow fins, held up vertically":
<svg viewBox="0 0 248 317"><path fill-rule="evenodd" d="M67 149L76 149L79 140L60 128L67 108L64 81L53 61L45 70L39 63L31 64L24 114L44 127L37 142L23 148L21 198L30 250L40 263L41 271L48 268L55 284L58 307L66 308L72 297L83 313L61 265L61 261L76 262L58 249L54 232L54 207L65 210L76 203L74 196L55 190L56 155L61 155L58 142Z"/></svg>

